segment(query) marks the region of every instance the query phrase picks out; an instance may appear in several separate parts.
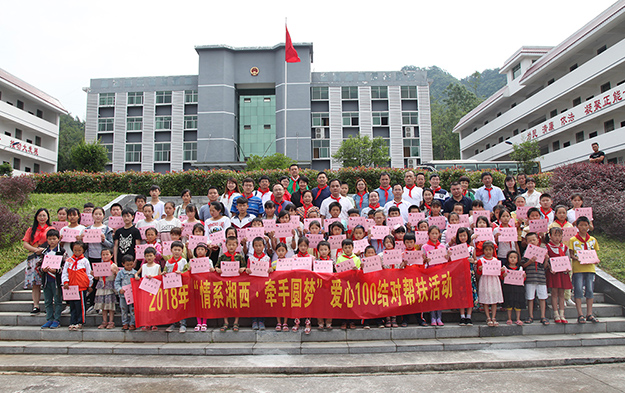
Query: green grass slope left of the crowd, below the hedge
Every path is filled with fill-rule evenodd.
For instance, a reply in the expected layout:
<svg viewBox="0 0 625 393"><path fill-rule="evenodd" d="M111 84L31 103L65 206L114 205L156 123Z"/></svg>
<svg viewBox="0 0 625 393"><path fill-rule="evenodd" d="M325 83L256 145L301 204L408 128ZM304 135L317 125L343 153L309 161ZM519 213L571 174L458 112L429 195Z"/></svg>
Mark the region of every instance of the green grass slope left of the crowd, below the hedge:
<svg viewBox="0 0 625 393"><path fill-rule="evenodd" d="M118 193L30 194L30 200L22 208L21 213L30 226L33 215L40 207L48 209L50 221L56 221L56 211L60 207L78 207L82 211L82 206L87 202L92 202L96 206L104 206L118 196ZM21 241L0 248L0 275L13 269L27 256L28 252L22 247Z"/></svg>

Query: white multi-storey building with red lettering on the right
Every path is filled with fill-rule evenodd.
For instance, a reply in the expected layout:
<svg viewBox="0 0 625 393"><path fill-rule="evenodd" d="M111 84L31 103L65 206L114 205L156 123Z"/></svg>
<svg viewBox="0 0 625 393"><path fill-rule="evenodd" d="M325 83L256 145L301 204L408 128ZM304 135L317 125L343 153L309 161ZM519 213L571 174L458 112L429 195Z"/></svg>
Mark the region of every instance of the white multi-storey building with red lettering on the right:
<svg viewBox="0 0 625 393"><path fill-rule="evenodd" d="M536 139L543 170L587 161L594 142L623 163L625 1L555 47L522 47L500 72L506 86L454 128L462 159L509 160L512 144Z"/></svg>

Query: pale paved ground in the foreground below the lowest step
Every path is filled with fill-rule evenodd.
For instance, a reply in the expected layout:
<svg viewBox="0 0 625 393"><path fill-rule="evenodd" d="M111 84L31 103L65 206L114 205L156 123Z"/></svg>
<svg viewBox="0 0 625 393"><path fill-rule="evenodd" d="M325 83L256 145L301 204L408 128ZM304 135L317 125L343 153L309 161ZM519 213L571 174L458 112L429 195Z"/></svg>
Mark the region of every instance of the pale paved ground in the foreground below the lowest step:
<svg viewBox="0 0 625 393"><path fill-rule="evenodd" d="M625 364L547 369L324 376L98 377L0 374L3 392L622 392Z"/></svg>

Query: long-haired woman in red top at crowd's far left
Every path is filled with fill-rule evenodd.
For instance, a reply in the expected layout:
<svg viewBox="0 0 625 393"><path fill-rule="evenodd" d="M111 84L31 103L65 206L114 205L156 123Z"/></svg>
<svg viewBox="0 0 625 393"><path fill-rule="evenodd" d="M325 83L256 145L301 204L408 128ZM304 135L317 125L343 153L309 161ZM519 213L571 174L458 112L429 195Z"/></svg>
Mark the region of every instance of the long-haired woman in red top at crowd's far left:
<svg viewBox="0 0 625 393"><path fill-rule="evenodd" d="M41 274L37 271L37 263L41 261L41 253L45 250L46 234L50 229L50 213L48 209L40 208L35 213L33 225L28 228L22 239L24 248L32 254L28 256L24 274L24 289L32 288L33 309L31 314L39 314L39 300L41 299Z"/></svg>

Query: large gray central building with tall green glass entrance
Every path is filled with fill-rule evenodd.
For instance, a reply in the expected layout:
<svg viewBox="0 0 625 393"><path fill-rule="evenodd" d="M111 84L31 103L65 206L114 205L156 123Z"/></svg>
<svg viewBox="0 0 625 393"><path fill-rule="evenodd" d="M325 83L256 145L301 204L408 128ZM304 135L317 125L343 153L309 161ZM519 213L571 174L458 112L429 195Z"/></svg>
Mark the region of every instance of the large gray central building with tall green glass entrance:
<svg viewBox="0 0 625 393"><path fill-rule="evenodd" d="M425 71L311 72L271 48L198 46L198 75L92 79L86 139L109 150L111 171L243 169L251 155L286 154L337 168L350 136L382 137L392 167L432 159Z"/></svg>

